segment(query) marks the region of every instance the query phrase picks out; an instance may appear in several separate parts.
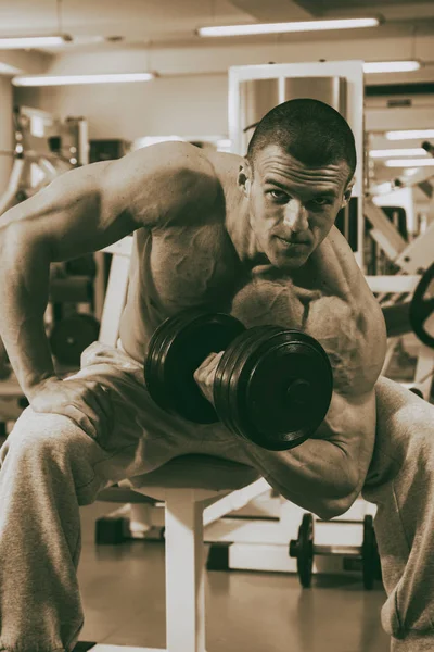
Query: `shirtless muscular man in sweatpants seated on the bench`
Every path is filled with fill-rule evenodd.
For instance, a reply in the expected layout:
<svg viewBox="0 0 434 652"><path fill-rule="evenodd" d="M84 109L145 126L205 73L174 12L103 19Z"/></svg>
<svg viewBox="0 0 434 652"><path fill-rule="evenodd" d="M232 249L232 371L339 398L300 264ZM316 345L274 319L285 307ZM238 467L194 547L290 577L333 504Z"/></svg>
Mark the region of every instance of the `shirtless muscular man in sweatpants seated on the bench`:
<svg viewBox="0 0 434 652"><path fill-rule="evenodd" d="M254 466L322 517L345 512L365 485L379 504L393 649L432 648L434 409L378 381L382 313L333 225L355 167L340 114L294 100L261 121L246 159L158 145L66 173L2 215L0 330L30 408L0 455L0 649L72 649L82 627L79 505L186 453ZM62 380L43 327L50 263L132 231L119 347L92 344L81 369ZM314 438L266 451L153 403L142 378L146 343L165 317L189 306L232 312L246 326L301 328L322 343L335 388ZM216 361L195 374L205 396Z"/></svg>

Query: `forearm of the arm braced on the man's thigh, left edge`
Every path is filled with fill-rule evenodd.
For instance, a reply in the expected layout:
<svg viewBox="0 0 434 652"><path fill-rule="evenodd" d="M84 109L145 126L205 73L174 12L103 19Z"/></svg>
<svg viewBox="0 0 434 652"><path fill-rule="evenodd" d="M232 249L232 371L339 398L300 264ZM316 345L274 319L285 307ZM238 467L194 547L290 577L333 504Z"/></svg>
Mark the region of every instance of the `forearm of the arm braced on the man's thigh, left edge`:
<svg viewBox="0 0 434 652"><path fill-rule="evenodd" d="M12 226L1 230L0 260L0 334L18 383L31 399L35 387L55 375L43 323L49 250Z"/></svg>

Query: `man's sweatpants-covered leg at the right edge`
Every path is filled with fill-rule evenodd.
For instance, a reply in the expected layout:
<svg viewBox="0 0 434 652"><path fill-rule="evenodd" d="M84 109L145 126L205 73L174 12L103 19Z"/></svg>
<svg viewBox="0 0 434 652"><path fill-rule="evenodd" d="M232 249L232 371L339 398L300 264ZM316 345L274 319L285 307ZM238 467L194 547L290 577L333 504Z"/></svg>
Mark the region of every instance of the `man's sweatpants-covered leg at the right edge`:
<svg viewBox="0 0 434 652"><path fill-rule="evenodd" d="M376 439L363 497L378 505L387 592L382 622L397 638L434 637L434 406L384 378L375 392Z"/></svg>

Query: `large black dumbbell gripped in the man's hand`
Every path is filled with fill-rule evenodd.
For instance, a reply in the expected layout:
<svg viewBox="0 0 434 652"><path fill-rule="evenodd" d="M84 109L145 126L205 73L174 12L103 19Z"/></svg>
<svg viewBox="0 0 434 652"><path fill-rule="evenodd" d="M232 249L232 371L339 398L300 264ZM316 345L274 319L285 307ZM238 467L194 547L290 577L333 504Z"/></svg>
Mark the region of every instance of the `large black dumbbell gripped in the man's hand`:
<svg viewBox="0 0 434 652"><path fill-rule="evenodd" d="M214 408L194 372L220 351ZM329 358L312 337L280 326L246 329L231 315L201 310L183 311L156 329L144 380L163 410L199 424L220 421L268 450L291 449L310 437L333 391Z"/></svg>

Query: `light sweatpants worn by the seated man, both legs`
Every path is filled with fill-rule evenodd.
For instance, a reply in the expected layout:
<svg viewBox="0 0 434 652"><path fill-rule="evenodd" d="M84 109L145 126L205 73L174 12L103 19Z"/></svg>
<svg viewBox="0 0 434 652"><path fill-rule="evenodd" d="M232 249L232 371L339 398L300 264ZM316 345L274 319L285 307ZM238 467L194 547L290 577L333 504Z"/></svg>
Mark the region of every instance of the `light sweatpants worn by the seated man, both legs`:
<svg viewBox="0 0 434 652"><path fill-rule="evenodd" d="M0 650L74 647L84 623L76 576L79 506L93 502L101 489L181 454L252 463L240 441L218 424L193 428L162 412L142 374L124 352L92 344L75 377L111 388L113 429L90 437L67 417L27 409L2 447ZM383 626L393 636L394 652L434 650L434 408L386 380L379 383L378 396L379 430L385 434L365 493L379 504L375 528L388 592Z"/></svg>

